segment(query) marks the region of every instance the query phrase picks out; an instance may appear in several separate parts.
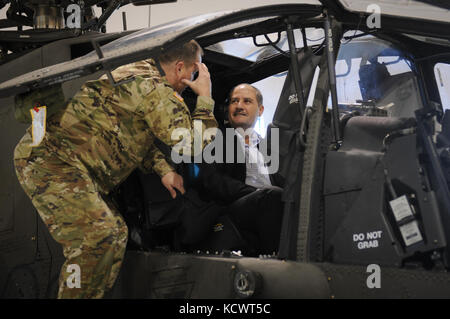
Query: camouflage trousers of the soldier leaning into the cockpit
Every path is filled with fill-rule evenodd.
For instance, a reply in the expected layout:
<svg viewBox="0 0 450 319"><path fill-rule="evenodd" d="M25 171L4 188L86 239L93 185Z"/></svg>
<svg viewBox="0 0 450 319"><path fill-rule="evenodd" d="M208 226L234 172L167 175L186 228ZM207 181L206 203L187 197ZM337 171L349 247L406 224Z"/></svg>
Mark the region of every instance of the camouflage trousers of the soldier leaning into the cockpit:
<svg viewBox="0 0 450 319"><path fill-rule="evenodd" d="M125 253L128 230L123 218L105 202L87 171L43 148L34 148L30 158L15 159L14 164L20 184L63 246L66 261L58 298L102 298L112 288ZM73 265L79 267L78 286Z"/></svg>

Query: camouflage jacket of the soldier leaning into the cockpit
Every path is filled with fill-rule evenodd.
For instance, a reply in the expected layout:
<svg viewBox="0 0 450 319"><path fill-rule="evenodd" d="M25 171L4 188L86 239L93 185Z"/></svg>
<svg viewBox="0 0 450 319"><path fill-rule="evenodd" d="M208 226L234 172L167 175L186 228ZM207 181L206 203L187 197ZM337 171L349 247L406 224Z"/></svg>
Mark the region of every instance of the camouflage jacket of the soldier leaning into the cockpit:
<svg viewBox="0 0 450 319"><path fill-rule="evenodd" d="M172 139L172 132L177 128L192 132L194 120L201 120L203 130L217 127L214 101L199 96L191 114L151 59L121 66L112 75L116 81L134 80L116 87L106 75L86 82L64 110L47 119L44 140L37 146L87 170L103 193L137 167L153 169L160 176L173 170L156 148L155 137L174 146L182 137ZM193 132L191 137L190 146ZM14 158L27 158L31 141L29 128Z"/></svg>

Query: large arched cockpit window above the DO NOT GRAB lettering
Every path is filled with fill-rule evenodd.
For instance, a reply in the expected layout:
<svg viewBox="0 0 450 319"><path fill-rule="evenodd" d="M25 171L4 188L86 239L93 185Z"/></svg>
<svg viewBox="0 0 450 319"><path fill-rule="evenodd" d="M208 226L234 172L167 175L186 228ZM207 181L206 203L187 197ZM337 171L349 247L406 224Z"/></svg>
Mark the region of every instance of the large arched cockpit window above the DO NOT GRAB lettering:
<svg viewBox="0 0 450 319"><path fill-rule="evenodd" d="M415 110L422 107L411 61L373 36L341 44L336 86L340 112L414 117Z"/></svg>

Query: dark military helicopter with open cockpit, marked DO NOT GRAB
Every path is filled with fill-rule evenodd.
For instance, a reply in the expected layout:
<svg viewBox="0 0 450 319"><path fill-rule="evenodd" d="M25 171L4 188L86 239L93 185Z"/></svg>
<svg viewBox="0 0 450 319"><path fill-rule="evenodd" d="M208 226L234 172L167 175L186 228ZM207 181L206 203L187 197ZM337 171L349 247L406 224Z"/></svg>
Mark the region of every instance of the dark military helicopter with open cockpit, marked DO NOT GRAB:
<svg viewBox="0 0 450 319"><path fill-rule="evenodd" d="M12 153L26 125L14 98L60 85L69 99L88 79L196 39L219 123L220 101L236 84L284 75L268 125L279 131L284 178L279 249L246 256L239 230L212 231L188 250L165 238L146 244L143 234L167 232L146 223L145 183L132 174L113 194L135 236L108 297L449 298L450 110L436 77L436 65L450 64L449 6L411 1L427 10L404 15L394 1L389 14L367 12L376 1L358 3L277 4L86 33L5 60L0 296L54 298L64 262L15 177ZM379 27L368 23L377 17ZM227 51L242 41L257 54ZM189 104L193 93L183 98Z"/></svg>

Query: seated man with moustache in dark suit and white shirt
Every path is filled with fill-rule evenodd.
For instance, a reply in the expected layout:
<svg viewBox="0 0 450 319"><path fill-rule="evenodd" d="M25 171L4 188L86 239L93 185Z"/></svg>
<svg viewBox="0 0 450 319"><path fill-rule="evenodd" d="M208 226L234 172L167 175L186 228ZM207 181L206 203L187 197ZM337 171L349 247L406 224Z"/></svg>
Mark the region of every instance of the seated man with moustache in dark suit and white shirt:
<svg viewBox="0 0 450 319"><path fill-rule="evenodd" d="M200 193L227 206L227 214L241 233L256 238L260 254L272 254L280 238L282 189L277 175L269 174L258 149L262 138L253 129L263 112L262 94L256 87L239 84L232 89L227 117L235 134L231 141L226 138L230 134L223 134L223 160L200 165L199 187ZM227 158L230 144L233 156Z"/></svg>

